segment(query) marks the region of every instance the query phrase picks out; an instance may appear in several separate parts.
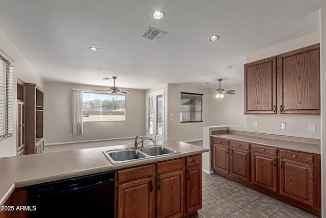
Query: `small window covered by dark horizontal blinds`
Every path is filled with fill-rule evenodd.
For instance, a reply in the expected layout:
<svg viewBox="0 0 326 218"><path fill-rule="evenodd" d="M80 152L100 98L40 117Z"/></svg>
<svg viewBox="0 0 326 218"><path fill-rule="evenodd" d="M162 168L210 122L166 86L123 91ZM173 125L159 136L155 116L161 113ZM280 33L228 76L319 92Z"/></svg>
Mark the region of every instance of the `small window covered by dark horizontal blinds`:
<svg viewBox="0 0 326 218"><path fill-rule="evenodd" d="M203 94L181 92L180 122L203 122Z"/></svg>

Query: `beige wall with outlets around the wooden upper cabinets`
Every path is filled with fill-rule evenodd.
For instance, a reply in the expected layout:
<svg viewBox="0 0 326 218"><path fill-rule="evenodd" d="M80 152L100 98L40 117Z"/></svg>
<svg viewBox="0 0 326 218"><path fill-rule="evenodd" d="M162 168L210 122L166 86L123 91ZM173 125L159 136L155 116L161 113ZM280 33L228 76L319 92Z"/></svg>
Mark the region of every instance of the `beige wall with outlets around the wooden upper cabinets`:
<svg viewBox="0 0 326 218"><path fill-rule="evenodd" d="M316 43L319 43L319 32L248 54L246 63ZM236 94L227 95L227 99L223 99L224 102L212 101L212 111L219 112L218 114L212 112L213 126L231 125L233 126L231 129L243 131L320 139L320 116L244 115L243 84L237 87L225 87L225 89L234 89ZM254 121L257 122L257 127L253 127ZM285 130L280 130L280 123L286 123ZM309 131L309 124L316 125L315 132Z"/></svg>

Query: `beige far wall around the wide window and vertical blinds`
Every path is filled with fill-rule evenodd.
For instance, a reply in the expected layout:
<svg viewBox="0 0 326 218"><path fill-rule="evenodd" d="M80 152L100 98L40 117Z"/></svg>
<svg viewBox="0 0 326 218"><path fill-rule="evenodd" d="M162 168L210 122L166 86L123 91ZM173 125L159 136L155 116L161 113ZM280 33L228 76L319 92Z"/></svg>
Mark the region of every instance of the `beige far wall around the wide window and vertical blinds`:
<svg viewBox="0 0 326 218"><path fill-rule="evenodd" d="M46 144L145 135L145 91L132 89L126 96L126 122L84 123L83 135L70 136L72 88L96 90L105 87L46 82L44 107Z"/></svg>

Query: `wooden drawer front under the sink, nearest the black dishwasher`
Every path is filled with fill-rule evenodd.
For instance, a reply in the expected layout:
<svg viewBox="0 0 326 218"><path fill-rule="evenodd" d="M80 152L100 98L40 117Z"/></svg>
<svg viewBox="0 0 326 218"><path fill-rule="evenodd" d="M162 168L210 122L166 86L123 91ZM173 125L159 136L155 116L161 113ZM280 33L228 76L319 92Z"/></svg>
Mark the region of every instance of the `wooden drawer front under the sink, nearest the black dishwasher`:
<svg viewBox="0 0 326 218"><path fill-rule="evenodd" d="M133 167L130 169L122 169L117 173L117 182L127 182L131 180L150 177L153 174L153 164Z"/></svg>

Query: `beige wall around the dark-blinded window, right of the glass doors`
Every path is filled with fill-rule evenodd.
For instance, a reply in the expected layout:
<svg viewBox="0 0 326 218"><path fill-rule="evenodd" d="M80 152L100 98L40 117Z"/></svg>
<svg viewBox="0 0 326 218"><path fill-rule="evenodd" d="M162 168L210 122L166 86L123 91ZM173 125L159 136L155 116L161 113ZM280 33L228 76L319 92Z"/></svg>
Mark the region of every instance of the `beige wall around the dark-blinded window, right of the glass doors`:
<svg viewBox="0 0 326 218"><path fill-rule="evenodd" d="M166 124L169 140L185 141L203 138L203 127L211 126L211 94L204 94L203 96L203 122L180 123L180 92L204 93L210 91L210 89L194 86L168 84L168 120Z"/></svg>

